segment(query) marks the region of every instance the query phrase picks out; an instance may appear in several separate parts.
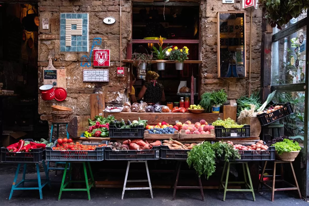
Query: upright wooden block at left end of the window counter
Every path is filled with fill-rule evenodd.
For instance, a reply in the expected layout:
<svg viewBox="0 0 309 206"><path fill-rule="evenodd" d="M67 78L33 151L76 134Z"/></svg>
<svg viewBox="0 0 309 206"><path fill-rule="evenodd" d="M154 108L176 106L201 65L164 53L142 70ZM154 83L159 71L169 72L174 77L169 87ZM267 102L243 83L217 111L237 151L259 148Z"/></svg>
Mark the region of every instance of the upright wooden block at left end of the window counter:
<svg viewBox="0 0 309 206"><path fill-rule="evenodd" d="M94 120L95 116L103 116L104 109L104 94L90 94L90 119Z"/></svg>

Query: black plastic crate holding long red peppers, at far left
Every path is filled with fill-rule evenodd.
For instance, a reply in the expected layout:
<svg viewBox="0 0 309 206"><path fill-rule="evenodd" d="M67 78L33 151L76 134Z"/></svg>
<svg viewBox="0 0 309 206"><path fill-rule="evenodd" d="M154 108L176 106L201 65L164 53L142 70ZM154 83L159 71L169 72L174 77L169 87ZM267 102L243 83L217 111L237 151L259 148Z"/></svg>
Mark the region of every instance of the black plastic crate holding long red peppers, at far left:
<svg viewBox="0 0 309 206"><path fill-rule="evenodd" d="M32 139L25 139L32 141ZM45 160L45 149L32 149L31 152L9 152L6 147L1 148L1 162L3 163L39 163Z"/></svg>

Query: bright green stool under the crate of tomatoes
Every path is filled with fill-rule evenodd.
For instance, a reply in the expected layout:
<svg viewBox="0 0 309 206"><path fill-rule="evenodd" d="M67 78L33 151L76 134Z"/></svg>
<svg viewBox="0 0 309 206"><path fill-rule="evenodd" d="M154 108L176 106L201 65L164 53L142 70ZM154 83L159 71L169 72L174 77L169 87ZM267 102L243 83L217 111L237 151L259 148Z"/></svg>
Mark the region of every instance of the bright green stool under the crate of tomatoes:
<svg viewBox="0 0 309 206"><path fill-rule="evenodd" d="M62 191L87 191L88 194L88 200L90 200L90 188L93 186L95 188L95 181L93 179L93 175L92 175L92 171L91 171L91 167L90 167L90 162L87 162L88 167L89 167L89 173L91 176L91 182L88 182L88 177L87 177L87 170L86 170L86 162L78 162L78 163L82 163L83 164L83 168L84 168L84 174L85 174L85 181L83 180L70 180L71 177L71 172L72 172L72 166L70 166L69 168L69 162L65 162L66 166L64 169L64 173L63 173L63 178L62 178L62 182L61 182L61 187L60 187L60 192L59 192L59 197L58 200L61 200L61 194ZM69 174L66 177L66 171L69 168ZM65 183L65 179L66 183ZM69 183L85 183L86 184L86 189L66 189L66 186L68 186Z"/></svg>

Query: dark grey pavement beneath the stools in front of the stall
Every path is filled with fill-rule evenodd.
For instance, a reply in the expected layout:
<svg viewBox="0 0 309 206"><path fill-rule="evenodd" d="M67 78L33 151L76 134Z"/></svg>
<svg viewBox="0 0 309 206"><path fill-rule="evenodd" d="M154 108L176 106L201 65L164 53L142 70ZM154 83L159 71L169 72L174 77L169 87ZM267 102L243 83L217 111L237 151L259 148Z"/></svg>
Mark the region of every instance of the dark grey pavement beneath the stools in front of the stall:
<svg viewBox="0 0 309 206"><path fill-rule="evenodd" d="M0 164L0 166L3 166ZM11 172L8 172L11 173ZM21 174L19 176L22 176ZM45 174L41 173L41 178L44 179ZM26 179L36 178L36 174L31 173L26 175ZM91 201L87 200L87 192L78 191L70 192L66 191L62 193L61 201L57 201L60 181L62 175L54 175L54 172L50 173L52 181L52 189L48 186L43 189L43 200L39 199L39 191L37 190L23 190L15 191L12 200L8 200L11 185L14 179L14 174L3 174L0 175L0 205L44 205L44 206L62 206L62 205L78 205L83 206L91 205L119 205L119 206L141 206L141 205L168 205L168 206L190 206L190 205L307 205L308 203L304 200L296 199L296 193L293 191L284 192L278 191L275 193L275 202L270 201L270 192L266 189L255 192L256 202L252 200L252 194L249 192L227 192L226 201L222 201L223 192L222 190L208 190L204 189L205 202L201 201L200 192L198 189L183 189L177 190L176 200L171 201L172 190L171 189L153 189L154 199L151 200L149 190L135 190L126 191L124 200L121 200L121 188L94 188L91 189ZM30 186L32 183L28 183ZM35 185L33 185L35 186Z"/></svg>

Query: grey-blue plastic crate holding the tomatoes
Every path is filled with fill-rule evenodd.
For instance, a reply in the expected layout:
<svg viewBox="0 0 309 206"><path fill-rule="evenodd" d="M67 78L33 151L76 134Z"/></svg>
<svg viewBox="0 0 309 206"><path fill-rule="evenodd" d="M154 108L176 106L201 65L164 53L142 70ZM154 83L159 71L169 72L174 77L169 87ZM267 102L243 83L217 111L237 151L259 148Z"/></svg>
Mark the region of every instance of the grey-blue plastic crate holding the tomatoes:
<svg viewBox="0 0 309 206"><path fill-rule="evenodd" d="M56 142L55 142L56 144ZM102 141L101 144L108 144L108 141ZM99 145L99 144L83 144L83 145ZM104 160L104 147L97 147L93 151L85 150L53 150L53 147L46 147L46 160L48 161L102 161Z"/></svg>

